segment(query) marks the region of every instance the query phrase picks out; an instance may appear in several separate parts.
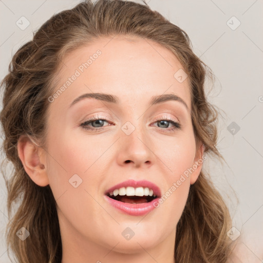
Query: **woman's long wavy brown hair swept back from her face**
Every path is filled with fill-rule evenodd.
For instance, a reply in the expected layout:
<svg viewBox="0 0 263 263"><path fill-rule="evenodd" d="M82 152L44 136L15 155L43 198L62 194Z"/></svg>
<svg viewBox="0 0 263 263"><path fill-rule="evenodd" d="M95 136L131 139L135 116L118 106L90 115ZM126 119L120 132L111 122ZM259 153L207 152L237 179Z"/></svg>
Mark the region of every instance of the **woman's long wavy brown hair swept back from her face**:
<svg viewBox="0 0 263 263"><path fill-rule="evenodd" d="M9 73L1 84L4 97L0 117L6 161L14 166L9 178L4 176L11 218L6 231L7 246L19 262L60 263L62 258L56 202L50 186L41 187L29 178L17 154L17 140L21 135L29 135L45 147L48 97L53 93L61 59L69 51L97 37L117 34L139 36L170 49L189 77L196 142L205 146L205 154L222 159L216 147L218 112L204 92L204 81L212 74L210 68L194 54L189 36L182 29L143 3L80 3L53 15L12 58ZM176 229L176 263L223 263L230 255L230 214L209 178L202 170L190 187ZM16 236L22 227L30 233L24 241Z"/></svg>

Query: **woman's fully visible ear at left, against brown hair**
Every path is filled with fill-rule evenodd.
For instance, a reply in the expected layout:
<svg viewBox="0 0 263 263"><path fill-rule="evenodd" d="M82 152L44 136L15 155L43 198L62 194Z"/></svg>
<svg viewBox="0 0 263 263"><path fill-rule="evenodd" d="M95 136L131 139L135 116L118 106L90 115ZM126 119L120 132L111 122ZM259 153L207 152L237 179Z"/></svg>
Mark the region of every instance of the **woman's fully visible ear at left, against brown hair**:
<svg viewBox="0 0 263 263"><path fill-rule="evenodd" d="M22 135L17 142L17 151L24 169L32 181L39 186L49 184L46 173L45 153L43 149L26 136Z"/></svg>

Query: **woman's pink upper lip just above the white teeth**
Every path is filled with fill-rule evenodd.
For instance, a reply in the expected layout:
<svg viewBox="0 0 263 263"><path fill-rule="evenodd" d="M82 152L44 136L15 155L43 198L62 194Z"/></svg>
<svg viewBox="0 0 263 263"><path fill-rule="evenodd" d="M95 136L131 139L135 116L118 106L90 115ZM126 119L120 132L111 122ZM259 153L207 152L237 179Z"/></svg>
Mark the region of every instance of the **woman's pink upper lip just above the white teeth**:
<svg viewBox="0 0 263 263"><path fill-rule="evenodd" d="M134 188L136 188L136 187L148 187L149 189L153 189L154 195L156 195L157 197L161 196L160 188L156 184L149 182L149 181L146 181L146 180L141 180L141 181L127 180L127 181L118 183L118 184L110 187L105 192L105 195L110 193L110 192L113 192L115 189L120 189L121 187L128 187L128 186L132 186Z"/></svg>

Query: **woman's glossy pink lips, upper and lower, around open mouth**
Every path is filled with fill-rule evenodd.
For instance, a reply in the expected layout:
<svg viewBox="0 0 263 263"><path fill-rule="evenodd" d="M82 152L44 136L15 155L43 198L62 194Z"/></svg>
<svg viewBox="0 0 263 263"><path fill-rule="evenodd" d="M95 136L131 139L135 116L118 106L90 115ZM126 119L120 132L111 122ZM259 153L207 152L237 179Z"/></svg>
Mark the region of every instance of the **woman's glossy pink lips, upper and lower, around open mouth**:
<svg viewBox="0 0 263 263"><path fill-rule="evenodd" d="M125 202L117 201L117 200L114 200L114 199L107 196L108 193L113 192L115 189L120 189L121 187L127 187L127 186L132 186L135 188L140 187L140 186L148 187L149 189L153 189L154 195L156 195L157 198L155 198L151 202L134 204L134 203L125 203ZM150 211L152 211L156 208L156 206L154 206L154 204L158 201L158 198L160 196L161 196L161 191L156 184L151 183L149 181L145 181L145 180L142 180L142 181L128 180L128 181L119 183L119 184L111 187L110 189L108 189L105 192L104 198L112 206L119 209L120 211L122 211L125 214L132 215L132 216L142 216L142 215L145 215L145 214L149 213Z"/></svg>

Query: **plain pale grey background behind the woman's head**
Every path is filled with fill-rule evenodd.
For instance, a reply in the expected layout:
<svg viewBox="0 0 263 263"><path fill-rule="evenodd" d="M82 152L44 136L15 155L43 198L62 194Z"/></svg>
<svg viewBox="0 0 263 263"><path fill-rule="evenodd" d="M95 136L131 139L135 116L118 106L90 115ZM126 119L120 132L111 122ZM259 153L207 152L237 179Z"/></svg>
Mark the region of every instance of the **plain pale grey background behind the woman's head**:
<svg viewBox="0 0 263 263"><path fill-rule="evenodd" d="M0 0L0 79L7 73L12 55L32 38L33 31L54 13L77 3ZM209 159L205 165L231 210L235 228L230 237L235 239L241 232L238 237L241 262L263 262L263 2L148 0L147 3L189 34L195 53L216 76L209 100L226 112L219 123L217 146L227 164ZM30 22L25 30L16 25L17 21L22 24L22 16ZM10 262L4 235L9 219L2 176L0 185L2 263Z"/></svg>

